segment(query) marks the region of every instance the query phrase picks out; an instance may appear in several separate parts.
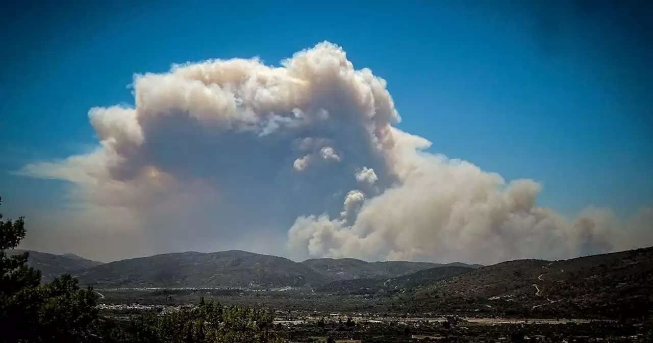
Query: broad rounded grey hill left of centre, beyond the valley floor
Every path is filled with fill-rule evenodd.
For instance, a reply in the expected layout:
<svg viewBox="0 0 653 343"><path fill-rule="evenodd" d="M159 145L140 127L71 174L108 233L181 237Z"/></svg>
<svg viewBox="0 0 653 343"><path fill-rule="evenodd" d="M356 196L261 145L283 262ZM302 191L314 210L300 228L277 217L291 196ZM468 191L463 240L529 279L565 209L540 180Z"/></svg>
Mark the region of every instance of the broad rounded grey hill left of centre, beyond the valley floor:
<svg viewBox="0 0 653 343"><path fill-rule="evenodd" d="M77 276L80 284L94 287L300 287L325 281L301 263L239 250L125 259Z"/></svg>

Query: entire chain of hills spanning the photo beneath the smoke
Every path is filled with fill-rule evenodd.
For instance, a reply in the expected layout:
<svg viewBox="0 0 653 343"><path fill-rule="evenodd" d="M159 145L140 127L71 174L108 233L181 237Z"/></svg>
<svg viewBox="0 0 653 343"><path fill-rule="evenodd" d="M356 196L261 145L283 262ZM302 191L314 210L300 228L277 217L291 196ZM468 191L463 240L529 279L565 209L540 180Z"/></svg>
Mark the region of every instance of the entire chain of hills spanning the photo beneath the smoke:
<svg viewBox="0 0 653 343"><path fill-rule="evenodd" d="M12 250L8 253L18 253ZM231 250L167 253L112 263L29 252L44 281L71 273L80 284L114 287L311 287L370 295L377 310L481 316L653 316L653 247L569 260L524 259L486 267L453 263L310 259ZM381 307L379 307L381 306Z"/></svg>

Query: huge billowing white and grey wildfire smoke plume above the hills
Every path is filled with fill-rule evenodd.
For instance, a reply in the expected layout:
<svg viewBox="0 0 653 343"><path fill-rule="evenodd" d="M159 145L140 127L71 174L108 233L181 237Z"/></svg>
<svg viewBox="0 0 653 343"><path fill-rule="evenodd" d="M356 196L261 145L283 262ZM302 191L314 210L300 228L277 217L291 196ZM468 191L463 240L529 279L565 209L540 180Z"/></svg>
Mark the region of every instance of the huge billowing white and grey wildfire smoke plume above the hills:
<svg viewBox="0 0 653 343"><path fill-rule="evenodd" d="M134 108L89 112L95 152L24 173L74 182L95 211L127 211L144 242L167 237L150 253L256 249L247 242L286 232L276 252L295 258L492 263L653 244L651 209L566 220L536 206L537 182L425 152L392 126L385 81L328 42L281 67L176 65L136 76L134 90Z"/></svg>

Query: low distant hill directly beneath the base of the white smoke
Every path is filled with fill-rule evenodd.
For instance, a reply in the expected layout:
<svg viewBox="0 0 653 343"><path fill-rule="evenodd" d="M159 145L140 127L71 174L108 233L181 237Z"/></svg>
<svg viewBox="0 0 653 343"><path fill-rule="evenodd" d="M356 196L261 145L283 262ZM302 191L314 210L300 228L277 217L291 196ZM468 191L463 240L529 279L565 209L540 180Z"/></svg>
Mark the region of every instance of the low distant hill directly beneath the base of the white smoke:
<svg viewBox="0 0 653 343"><path fill-rule="evenodd" d="M302 264L310 266L330 280L388 279L434 267L481 267L457 262L443 265L408 261L366 262L360 259L307 259Z"/></svg>

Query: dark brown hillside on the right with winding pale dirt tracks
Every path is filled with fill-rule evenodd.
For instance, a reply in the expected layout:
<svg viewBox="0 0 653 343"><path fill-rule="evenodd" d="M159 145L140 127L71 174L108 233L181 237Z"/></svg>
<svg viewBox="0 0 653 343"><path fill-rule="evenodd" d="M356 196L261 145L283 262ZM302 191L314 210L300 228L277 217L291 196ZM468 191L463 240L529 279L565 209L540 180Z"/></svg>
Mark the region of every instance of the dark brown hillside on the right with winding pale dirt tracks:
<svg viewBox="0 0 653 343"><path fill-rule="evenodd" d="M528 316L650 316L653 248L565 261L517 260L418 287L398 308Z"/></svg>

